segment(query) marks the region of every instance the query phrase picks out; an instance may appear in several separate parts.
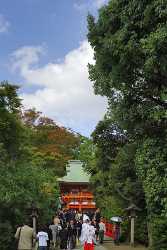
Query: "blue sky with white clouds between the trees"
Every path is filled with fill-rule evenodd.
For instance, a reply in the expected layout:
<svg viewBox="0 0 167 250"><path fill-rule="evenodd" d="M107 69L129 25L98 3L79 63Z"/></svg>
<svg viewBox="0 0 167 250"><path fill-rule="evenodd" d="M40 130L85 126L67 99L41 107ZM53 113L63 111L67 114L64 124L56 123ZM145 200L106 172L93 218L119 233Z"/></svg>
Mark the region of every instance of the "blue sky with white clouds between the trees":
<svg viewBox="0 0 167 250"><path fill-rule="evenodd" d="M86 17L107 1L0 0L0 81L20 86L24 109L85 136L107 107L88 78L94 60Z"/></svg>

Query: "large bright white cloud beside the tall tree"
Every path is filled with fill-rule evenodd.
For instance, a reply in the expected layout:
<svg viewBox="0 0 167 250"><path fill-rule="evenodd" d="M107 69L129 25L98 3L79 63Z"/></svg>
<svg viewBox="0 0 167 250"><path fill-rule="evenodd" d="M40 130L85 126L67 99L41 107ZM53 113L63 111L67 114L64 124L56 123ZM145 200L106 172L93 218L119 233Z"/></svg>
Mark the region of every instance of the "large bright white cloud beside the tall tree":
<svg viewBox="0 0 167 250"><path fill-rule="evenodd" d="M12 68L25 81L36 86L33 93L23 93L26 108L36 107L65 126L91 132L103 118L106 100L93 93L88 80L88 62L93 63L93 50L87 41L70 51L61 63L39 67L42 47L22 47L12 54ZM31 86L30 85L30 86Z"/></svg>

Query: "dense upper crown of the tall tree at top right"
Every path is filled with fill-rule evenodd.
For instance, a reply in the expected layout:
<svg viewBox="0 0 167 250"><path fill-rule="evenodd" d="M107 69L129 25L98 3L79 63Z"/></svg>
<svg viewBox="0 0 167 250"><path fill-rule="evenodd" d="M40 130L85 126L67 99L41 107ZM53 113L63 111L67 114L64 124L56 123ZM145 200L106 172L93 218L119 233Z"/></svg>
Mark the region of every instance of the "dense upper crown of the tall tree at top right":
<svg viewBox="0 0 167 250"><path fill-rule="evenodd" d="M161 96L165 90L161 80L166 80L166 18L162 15L166 11L162 1L111 1L101 9L97 22L88 17L88 39L96 59L90 78L97 93L115 99L116 89L166 106Z"/></svg>

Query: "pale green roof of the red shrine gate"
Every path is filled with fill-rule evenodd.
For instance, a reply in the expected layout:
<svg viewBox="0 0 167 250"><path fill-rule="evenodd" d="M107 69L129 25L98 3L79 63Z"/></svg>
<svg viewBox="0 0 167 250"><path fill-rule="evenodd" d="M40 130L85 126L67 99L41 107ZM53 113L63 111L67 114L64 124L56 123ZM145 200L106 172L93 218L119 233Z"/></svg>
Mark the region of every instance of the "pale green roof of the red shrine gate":
<svg viewBox="0 0 167 250"><path fill-rule="evenodd" d="M82 162L78 160L69 161L67 175L60 178L60 182L89 183L90 176L84 171Z"/></svg>

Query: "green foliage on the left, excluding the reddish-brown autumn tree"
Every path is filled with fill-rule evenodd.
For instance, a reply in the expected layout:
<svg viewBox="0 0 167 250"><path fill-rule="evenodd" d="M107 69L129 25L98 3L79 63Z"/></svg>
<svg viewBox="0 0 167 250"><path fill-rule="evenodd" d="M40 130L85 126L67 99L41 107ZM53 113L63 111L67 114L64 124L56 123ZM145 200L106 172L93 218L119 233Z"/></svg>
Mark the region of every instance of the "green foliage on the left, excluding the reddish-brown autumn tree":
<svg viewBox="0 0 167 250"><path fill-rule="evenodd" d="M59 188L52 159L32 144L32 130L23 124L17 87L0 85L0 246L14 248L14 233L35 202L40 223L58 207Z"/></svg>

